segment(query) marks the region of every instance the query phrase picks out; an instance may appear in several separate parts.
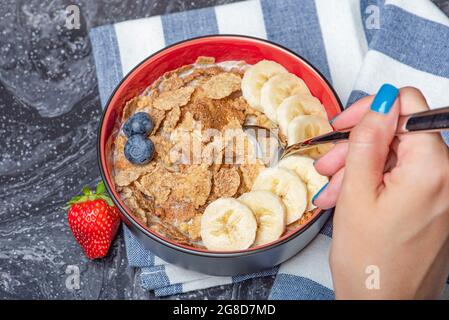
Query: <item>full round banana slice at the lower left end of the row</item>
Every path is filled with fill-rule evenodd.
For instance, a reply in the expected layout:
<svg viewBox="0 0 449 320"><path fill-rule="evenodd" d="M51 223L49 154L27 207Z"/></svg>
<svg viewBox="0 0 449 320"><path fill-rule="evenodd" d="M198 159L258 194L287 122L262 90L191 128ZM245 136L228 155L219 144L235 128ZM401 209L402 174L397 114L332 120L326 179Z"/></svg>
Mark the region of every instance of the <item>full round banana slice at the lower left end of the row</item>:
<svg viewBox="0 0 449 320"><path fill-rule="evenodd" d="M233 198L211 202L201 217L201 238L209 250L248 249L256 238L256 230L251 209Z"/></svg>

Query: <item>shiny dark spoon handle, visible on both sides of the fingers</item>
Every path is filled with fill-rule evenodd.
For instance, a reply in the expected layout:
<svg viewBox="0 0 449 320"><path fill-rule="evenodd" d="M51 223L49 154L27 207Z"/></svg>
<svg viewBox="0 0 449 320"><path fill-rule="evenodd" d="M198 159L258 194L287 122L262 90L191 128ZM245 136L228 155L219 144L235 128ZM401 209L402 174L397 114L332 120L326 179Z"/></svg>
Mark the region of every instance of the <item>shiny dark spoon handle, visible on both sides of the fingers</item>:
<svg viewBox="0 0 449 320"><path fill-rule="evenodd" d="M400 116L396 135L412 132L438 132L449 130L449 107ZM351 129L329 132L312 139L295 143L285 149L282 158L313 146L349 139Z"/></svg>

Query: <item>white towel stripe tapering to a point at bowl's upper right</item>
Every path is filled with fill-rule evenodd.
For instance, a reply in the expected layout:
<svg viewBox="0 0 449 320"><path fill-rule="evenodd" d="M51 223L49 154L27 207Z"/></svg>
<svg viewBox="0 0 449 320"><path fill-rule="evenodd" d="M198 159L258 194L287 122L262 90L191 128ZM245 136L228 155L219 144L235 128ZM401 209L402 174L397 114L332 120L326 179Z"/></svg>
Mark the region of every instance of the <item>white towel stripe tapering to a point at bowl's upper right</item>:
<svg viewBox="0 0 449 320"><path fill-rule="evenodd" d="M360 2L316 0L334 88L346 105L367 52Z"/></svg>

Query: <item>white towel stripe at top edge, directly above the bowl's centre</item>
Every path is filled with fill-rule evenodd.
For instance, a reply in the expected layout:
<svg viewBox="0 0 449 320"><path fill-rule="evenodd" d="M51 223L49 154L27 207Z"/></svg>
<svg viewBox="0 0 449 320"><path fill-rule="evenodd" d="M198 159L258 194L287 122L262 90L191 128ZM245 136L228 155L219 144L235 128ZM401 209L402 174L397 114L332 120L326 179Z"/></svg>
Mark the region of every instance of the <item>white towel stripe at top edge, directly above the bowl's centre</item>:
<svg viewBox="0 0 449 320"><path fill-rule="evenodd" d="M222 34L242 34L267 38L259 0L215 7L218 30Z"/></svg>

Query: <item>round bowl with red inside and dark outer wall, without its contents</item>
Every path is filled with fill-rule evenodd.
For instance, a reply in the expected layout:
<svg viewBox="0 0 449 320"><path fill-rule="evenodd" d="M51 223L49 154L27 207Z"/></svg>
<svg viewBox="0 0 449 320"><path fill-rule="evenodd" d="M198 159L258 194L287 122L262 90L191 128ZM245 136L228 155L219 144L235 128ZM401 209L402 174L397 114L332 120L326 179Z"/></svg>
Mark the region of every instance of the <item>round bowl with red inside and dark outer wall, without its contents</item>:
<svg viewBox="0 0 449 320"><path fill-rule="evenodd" d="M180 245L151 230L137 220L120 199L112 173L112 146L125 103L141 94L165 72L195 62L198 56L214 57L217 62L244 60L249 64L273 60L304 80L311 93L324 105L328 117L342 110L335 91L321 73L304 58L269 41L246 36L217 35L186 40L167 47L129 72L112 93L100 122L98 161L106 188L121 212L121 218L141 242L167 262L214 275L254 272L290 258L319 232L330 212L315 210L311 219L277 241L235 252L212 252Z"/></svg>

